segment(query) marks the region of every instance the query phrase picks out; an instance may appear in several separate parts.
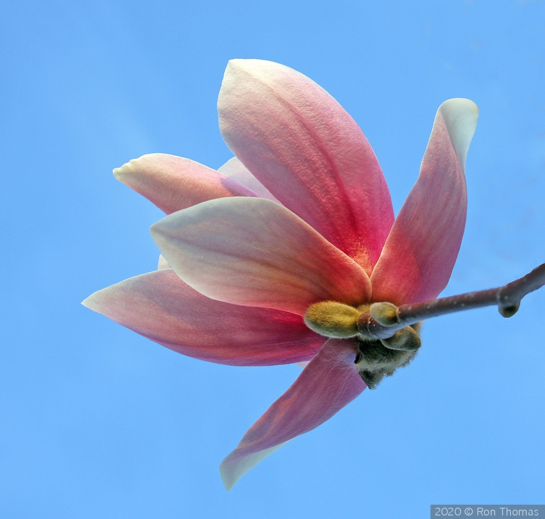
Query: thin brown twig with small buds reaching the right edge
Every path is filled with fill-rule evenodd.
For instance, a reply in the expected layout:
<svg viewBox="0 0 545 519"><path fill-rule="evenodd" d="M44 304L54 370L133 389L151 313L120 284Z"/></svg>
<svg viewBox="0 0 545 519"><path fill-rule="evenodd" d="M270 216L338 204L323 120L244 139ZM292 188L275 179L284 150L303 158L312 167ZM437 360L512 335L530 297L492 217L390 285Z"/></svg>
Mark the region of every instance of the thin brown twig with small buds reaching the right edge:
<svg viewBox="0 0 545 519"><path fill-rule="evenodd" d="M517 312L520 300L543 285L545 285L545 263L503 287L441 297L425 303L399 307L391 303L374 303L369 312L360 315L358 330L366 337L386 339L392 337L397 330L424 319L493 305L498 306L498 311L503 317L511 317Z"/></svg>

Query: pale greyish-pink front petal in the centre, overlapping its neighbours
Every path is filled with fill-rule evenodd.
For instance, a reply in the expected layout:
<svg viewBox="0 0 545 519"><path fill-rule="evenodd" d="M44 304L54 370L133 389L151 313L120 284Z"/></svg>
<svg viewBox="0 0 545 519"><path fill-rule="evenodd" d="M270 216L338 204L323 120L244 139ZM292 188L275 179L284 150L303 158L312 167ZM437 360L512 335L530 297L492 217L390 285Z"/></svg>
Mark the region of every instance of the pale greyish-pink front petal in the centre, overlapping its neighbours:
<svg viewBox="0 0 545 519"><path fill-rule="evenodd" d="M271 200L209 200L151 231L178 276L212 299L303 315L314 302L357 306L371 297L358 264Z"/></svg>

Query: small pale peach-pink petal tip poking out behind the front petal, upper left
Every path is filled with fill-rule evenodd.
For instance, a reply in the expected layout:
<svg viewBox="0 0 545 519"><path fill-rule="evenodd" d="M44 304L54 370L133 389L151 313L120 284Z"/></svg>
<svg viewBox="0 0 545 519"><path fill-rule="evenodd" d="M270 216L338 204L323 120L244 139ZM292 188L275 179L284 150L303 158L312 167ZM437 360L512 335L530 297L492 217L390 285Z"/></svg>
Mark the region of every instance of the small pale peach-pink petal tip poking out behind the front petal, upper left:
<svg viewBox="0 0 545 519"><path fill-rule="evenodd" d="M132 159L113 174L167 214L224 196L257 196L214 169L166 153Z"/></svg>

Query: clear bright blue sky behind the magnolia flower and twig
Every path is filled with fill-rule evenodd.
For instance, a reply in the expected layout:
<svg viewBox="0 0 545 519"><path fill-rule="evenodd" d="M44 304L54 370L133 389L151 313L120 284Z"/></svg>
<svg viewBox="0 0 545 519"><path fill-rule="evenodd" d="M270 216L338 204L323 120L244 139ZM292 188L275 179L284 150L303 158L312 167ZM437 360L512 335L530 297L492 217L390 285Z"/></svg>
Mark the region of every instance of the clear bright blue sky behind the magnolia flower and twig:
<svg viewBox="0 0 545 519"><path fill-rule="evenodd" d="M440 103L474 100L468 222L444 294L545 260L543 0L5 2L0 10L0 517L427 517L545 503L545 289L429 321L411 366L227 493L218 466L296 366L189 359L80 305L156 268L162 213L111 170L232 153L230 58L317 81L377 153L396 212Z"/></svg>

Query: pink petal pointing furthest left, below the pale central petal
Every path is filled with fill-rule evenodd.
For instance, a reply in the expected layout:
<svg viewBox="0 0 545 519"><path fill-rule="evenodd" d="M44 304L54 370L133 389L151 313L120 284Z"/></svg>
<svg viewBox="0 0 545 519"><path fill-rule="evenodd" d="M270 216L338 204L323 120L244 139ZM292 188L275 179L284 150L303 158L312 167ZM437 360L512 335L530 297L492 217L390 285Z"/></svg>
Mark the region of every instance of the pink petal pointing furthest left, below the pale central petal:
<svg viewBox="0 0 545 519"><path fill-rule="evenodd" d="M299 315L209 299L172 269L125 279L82 304L178 353L231 366L310 360L326 340Z"/></svg>

